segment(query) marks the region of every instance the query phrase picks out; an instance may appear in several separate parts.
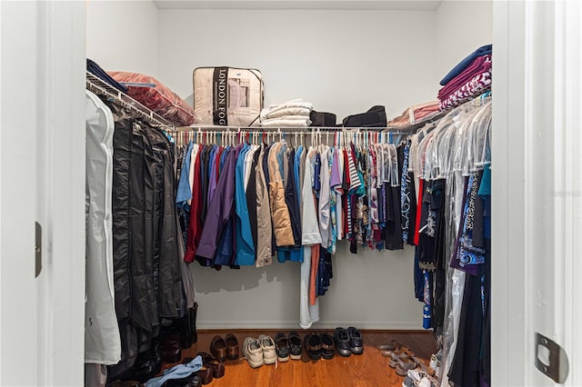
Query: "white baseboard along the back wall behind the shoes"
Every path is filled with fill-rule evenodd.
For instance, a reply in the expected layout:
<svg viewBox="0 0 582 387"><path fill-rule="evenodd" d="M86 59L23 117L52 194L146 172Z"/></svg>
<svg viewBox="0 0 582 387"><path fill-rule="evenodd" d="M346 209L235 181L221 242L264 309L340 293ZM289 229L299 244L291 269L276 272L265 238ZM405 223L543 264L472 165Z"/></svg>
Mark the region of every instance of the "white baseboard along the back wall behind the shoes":
<svg viewBox="0 0 582 387"><path fill-rule="evenodd" d="M346 321L325 321L313 324L312 329L336 329L336 327L348 327L355 326L357 329L361 330L379 330L379 331L419 331L422 330L422 326L419 326L418 322L346 322ZM212 322L212 321L202 321L196 322L197 329L204 330L222 330L222 329L241 329L241 330L299 330L301 327L296 321L229 321L229 322Z"/></svg>

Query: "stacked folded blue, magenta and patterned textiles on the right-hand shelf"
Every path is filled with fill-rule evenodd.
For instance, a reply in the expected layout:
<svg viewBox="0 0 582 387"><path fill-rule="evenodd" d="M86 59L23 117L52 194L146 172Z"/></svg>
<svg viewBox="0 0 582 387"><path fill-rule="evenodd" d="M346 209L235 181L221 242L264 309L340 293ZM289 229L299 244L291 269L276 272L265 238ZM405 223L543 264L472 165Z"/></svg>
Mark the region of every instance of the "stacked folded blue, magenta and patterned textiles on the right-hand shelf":
<svg viewBox="0 0 582 387"><path fill-rule="evenodd" d="M441 110L450 110L491 89L492 48L492 45L477 48L440 81Z"/></svg>

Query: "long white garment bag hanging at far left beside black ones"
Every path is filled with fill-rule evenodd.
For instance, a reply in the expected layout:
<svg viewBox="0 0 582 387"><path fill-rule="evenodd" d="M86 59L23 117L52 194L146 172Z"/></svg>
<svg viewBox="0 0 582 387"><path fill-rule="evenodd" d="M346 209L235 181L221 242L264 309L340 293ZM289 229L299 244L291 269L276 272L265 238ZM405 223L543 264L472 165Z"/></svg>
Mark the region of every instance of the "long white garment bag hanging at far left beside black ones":
<svg viewBox="0 0 582 387"><path fill-rule="evenodd" d="M111 193L113 115L86 92L85 362L115 364L121 340L115 316Z"/></svg>

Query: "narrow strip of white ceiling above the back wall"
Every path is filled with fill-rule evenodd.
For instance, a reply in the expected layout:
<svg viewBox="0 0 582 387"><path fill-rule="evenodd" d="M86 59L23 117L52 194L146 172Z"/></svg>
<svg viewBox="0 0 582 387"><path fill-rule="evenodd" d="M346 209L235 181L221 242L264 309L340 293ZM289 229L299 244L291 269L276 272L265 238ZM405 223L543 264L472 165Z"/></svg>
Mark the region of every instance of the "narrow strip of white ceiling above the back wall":
<svg viewBox="0 0 582 387"><path fill-rule="evenodd" d="M154 0L158 9L328 9L435 11L440 0Z"/></svg>

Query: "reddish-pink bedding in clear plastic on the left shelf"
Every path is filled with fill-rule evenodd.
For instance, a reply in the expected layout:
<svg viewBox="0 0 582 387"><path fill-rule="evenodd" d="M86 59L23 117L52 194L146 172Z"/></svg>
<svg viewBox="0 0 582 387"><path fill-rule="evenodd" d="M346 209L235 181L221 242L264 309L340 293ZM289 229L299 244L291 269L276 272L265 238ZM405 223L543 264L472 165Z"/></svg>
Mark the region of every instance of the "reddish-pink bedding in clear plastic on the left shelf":
<svg viewBox="0 0 582 387"><path fill-rule="evenodd" d="M153 76L120 71L108 74L125 84L129 96L172 124L188 126L196 122L194 109Z"/></svg>

